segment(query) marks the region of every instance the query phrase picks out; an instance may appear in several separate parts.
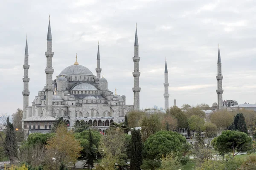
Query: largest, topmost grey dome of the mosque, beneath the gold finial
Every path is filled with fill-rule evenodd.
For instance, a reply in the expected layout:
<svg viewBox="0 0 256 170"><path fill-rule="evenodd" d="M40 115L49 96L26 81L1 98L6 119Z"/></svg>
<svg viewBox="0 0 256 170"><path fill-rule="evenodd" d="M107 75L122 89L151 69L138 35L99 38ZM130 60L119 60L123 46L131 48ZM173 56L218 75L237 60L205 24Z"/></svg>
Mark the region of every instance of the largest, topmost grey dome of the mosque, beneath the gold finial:
<svg viewBox="0 0 256 170"><path fill-rule="evenodd" d="M90 75L93 76L93 73L86 67L82 65L70 65L65 68L59 75Z"/></svg>

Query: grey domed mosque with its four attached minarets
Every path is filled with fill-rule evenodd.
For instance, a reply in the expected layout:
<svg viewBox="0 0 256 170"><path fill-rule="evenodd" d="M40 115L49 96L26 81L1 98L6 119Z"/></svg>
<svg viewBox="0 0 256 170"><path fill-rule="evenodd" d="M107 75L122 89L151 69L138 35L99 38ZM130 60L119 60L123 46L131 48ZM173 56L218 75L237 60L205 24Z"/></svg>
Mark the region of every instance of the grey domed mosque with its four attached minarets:
<svg viewBox="0 0 256 170"><path fill-rule="evenodd" d="M108 81L101 77L100 53L96 58L96 76L92 71L76 61L73 65L64 68L56 79L52 79L52 33L49 18L47 33L47 59L46 85L35 96L32 106L29 106L29 52L26 40L24 57L23 77L23 119L22 127L25 137L29 133L47 133L53 122L58 117L63 117L68 127L81 125L82 123L97 128L102 134L105 133L112 122L124 122L125 115L129 111L140 110L140 87L139 87L139 43L137 26L134 42L134 105L126 105L125 95L113 94L108 89Z"/></svg>

